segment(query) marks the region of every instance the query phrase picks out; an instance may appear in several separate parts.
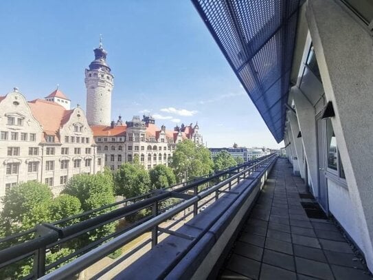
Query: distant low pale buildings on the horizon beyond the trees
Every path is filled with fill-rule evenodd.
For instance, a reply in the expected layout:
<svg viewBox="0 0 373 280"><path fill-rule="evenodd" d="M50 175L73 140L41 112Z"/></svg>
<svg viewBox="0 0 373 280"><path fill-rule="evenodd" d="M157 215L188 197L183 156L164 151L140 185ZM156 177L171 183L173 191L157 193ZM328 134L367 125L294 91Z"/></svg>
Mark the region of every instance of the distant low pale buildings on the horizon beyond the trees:
<svg viewBox="0 0 373 280"><path fill-rule="evenodd" d="M268 148L246 148L246 147L238 147L235 143L234 147L231 148L209 148L211 152L212 158L216 157L218 153L221 151L227 151L230 153L234 158L242 158L245 162L248 160L255 160L256 158L260 158L264 155L269 155L271 150Z"/></svg>

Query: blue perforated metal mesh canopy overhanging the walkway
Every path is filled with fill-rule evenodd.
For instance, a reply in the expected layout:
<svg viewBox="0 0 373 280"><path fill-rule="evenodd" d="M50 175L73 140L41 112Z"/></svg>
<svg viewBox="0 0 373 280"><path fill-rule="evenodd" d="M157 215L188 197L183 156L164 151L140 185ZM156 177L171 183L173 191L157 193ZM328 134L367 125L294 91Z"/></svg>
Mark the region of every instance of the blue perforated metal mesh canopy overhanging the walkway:
<svg viewBox="0 0 373 280"><path fill-rule="evenodd" d="M299 0L192 0L277 142L284 138Z"/></svg>

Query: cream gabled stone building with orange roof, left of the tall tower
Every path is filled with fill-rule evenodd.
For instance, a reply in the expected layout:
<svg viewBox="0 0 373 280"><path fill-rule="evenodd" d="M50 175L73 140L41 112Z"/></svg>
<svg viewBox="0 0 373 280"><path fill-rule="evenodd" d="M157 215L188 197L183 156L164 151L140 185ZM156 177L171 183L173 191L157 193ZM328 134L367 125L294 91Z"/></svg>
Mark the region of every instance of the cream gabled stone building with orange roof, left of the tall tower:
<svg viewBox="0 0 373 280"><path fill-rule="evenodd" d="M73 175L103 169L82 108L64 107L69 99L58 89L46 99L27 102L16 88L0 96L0 197L30 180L59 193Z"/></svg>

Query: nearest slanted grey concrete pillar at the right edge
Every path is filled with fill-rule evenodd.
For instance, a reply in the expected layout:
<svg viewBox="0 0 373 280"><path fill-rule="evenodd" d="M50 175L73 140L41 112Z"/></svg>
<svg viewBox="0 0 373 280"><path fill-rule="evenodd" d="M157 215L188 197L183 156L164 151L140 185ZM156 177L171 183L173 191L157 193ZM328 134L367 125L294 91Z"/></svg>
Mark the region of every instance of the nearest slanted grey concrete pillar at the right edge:
<svg viewBox="0 0 373 280"><path fill-rule="evenodd" d="M359 228L361 250L373 270L373 39L368 27L336 1L308 0L306 17L326 100L335 109L332 127L355 217L346 220L345 228L352 235ZM344 207L333 209L336 217L345 214Z"/></svg>

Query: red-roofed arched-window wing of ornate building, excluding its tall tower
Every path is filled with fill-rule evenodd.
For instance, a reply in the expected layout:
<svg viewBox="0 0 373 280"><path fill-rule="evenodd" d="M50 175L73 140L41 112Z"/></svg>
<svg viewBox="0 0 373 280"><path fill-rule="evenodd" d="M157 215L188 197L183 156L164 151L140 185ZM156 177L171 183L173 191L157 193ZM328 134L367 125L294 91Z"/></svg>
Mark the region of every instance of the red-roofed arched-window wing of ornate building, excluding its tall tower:
<svg viewBox="0 0 373 280"><path fill-rule="evenodd" d="M125 162L133 162L135 157L146 169L157 164L168 166L176 144L185 139L202 144L203 138L198 125L181 125L174 130L159 129L151 116L133 116L124 125L122 117L112 122L110 127L91 126L98 153L104 153L105 165L116 170Z"/></svg>

